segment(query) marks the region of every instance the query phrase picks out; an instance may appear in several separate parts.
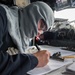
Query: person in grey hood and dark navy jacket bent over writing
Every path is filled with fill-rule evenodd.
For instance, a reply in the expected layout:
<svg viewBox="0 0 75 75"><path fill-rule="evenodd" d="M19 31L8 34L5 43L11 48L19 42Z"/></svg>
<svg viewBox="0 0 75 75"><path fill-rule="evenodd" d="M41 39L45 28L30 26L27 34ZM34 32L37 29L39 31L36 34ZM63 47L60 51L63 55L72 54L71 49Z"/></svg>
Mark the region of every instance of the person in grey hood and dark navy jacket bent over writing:
<svg viewBox="0 0 75 75"><path fill-rule="evenodd" d="M53 23L53 11L44 2L34 2L25 8L0 4L0 75L26 75L35 67L45 66L50 52L40 50L25 54L25 50L31 38ZM17 48L19 53L9 55L6 52L8 47Z"/></svg>

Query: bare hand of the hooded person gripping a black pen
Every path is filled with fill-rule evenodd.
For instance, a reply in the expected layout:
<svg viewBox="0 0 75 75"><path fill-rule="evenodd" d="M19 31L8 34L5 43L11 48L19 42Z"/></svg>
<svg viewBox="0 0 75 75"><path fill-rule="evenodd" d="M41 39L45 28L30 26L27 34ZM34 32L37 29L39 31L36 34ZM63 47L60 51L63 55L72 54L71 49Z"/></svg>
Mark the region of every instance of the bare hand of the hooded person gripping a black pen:
<svg viewBox="0 0 75 75"><path fill-rule="evenodd" d="M35 53L34 56L38 59L37 67L43 67L49 62L50 52L47 50L42 50Z"/></svg>

